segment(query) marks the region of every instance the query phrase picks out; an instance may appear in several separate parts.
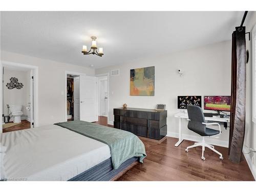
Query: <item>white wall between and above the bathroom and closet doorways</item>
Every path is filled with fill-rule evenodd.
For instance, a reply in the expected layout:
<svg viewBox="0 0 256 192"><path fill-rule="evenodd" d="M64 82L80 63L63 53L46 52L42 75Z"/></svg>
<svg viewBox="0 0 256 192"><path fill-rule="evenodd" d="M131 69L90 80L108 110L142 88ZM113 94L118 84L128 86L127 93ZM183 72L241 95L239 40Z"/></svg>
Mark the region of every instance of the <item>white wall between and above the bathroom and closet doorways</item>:
<svg viewBox="0 0 256 192"><path fill-rule="evenodd" d="M38 124L65 121L65 71L94 75L94 69L1 50L1 60L38 66Z"/></svg>

